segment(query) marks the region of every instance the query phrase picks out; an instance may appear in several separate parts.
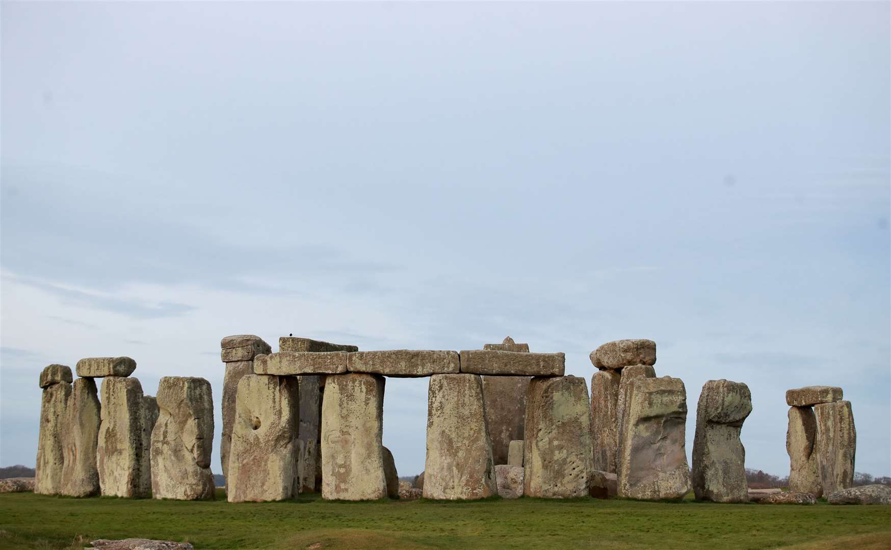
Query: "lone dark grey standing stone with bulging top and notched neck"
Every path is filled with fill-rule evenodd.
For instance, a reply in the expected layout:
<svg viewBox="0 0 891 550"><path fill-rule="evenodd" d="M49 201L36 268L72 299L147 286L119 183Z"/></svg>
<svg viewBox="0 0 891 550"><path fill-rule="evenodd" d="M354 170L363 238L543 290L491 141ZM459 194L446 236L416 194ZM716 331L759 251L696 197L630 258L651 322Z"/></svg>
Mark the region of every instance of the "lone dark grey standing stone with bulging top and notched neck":
<svg viewBox="0 0 891 550"><path fill-rule="evenodd" d="M709 380L699 393L691 482L697 500L747 502L742 424L752 412L748 386Z"/></svg>

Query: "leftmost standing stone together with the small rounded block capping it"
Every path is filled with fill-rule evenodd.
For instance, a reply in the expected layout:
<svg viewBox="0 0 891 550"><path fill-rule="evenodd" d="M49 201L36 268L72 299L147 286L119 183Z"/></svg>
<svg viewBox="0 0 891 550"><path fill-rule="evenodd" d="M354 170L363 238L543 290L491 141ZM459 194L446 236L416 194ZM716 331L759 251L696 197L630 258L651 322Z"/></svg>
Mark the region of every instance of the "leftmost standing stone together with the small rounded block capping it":
<svg viewBox="0 0 891 550"><path fill-rule="evenodd" d="M71 369L64 365L50 365L40 373L40 433L37 438L37 465L34 492L38 495L58 495L62 491L62 471L65 465L64 438L71 398Z"/></svg>

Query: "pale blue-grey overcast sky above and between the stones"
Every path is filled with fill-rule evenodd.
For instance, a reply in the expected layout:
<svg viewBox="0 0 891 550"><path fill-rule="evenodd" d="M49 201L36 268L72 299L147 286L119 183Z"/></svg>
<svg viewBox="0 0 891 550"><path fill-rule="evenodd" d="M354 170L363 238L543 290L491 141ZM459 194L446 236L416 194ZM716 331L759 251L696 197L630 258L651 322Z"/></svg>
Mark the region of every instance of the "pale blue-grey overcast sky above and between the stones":
<svg viewBox="0 0 891 550"><path fill-rule="evenodd" d="M3 3L0 465L50 363L204 376L218 437L223 336L511 335L589 381L655 340L688 455L745 382L781 475L784 392L840 385L891 474L889 5ZM402 474L427 383L387 380Z"/></svg>

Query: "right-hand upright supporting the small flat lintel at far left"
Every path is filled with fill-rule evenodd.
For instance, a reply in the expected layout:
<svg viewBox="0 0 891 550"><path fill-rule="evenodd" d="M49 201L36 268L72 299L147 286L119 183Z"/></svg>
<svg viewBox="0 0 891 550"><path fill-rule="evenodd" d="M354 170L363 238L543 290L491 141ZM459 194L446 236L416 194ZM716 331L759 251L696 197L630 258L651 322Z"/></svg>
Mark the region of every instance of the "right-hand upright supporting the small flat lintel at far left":
<svg viewBox="0 0 891 550"><path fill-rule="evenodd" d="M143 498L151 494L150 449L145 444L143 411L139 380L125 376L102 380L96 467L103 496Z"/></svg>

